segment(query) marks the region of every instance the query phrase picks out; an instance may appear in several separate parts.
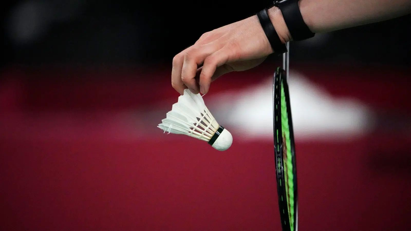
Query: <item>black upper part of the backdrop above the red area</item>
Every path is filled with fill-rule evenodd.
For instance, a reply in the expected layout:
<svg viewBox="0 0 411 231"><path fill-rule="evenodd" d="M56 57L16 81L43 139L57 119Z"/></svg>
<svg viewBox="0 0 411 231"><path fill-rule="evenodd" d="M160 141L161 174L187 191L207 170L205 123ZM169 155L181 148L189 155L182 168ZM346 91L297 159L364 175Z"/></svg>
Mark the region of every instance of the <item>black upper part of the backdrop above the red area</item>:
<svg viewBox="0 0 411 231"><path fill-rule="evenodd" d="M2 7L5 63L170 63L203 34L270 1L13 1ZM21 8L18 8L21 7ZM18 11L21 9L21 12ZM410 16L296 42L292 60L410 64ZM21 32L32 26L32 30ZM19 31L19 32L16 32ZM14 31L14 32L13 32Z"/></svg>

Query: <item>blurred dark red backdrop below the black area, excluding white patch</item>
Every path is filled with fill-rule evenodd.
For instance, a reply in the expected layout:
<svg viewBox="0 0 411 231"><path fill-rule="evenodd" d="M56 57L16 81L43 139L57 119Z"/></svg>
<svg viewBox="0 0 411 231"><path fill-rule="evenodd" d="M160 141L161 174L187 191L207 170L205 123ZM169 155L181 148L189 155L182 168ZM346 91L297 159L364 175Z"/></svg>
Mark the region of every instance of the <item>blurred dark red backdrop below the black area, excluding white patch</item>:
<svg viewBox="0 0 411 231"><path fill-rule="evenodd" d="M156 125L178 95L169 70L157 69L2 74L2 230L281 229L272 142L233 133L218 152L164 135ZM409 69L298 69L335 96L410 118ZM229 74L212 90L241 90L271 72ZM170 103L153 106L161 102ZM410 144L409 132L378 127L360 139L297 141L299 230L410 230Z"/></svg>

